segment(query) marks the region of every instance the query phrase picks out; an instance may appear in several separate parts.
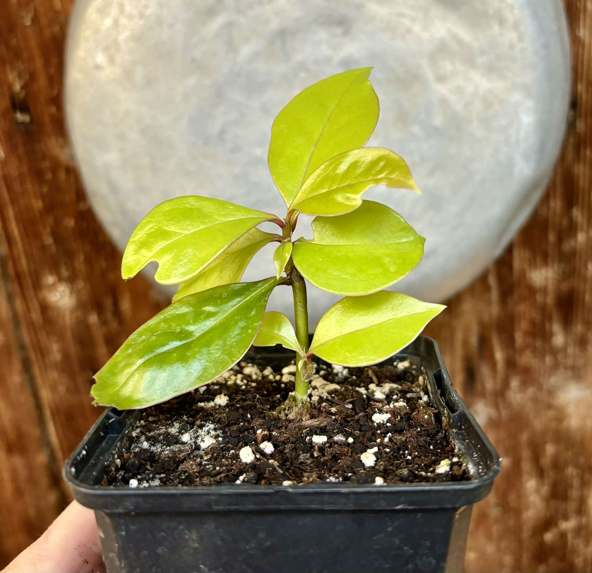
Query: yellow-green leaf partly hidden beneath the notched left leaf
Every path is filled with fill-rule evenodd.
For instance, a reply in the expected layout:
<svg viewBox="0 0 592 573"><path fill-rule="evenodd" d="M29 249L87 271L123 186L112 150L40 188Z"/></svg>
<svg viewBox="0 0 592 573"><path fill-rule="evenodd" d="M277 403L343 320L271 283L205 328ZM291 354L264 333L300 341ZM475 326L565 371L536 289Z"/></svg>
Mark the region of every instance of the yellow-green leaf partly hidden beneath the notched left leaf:
<svg viewBox="0 0 592 573"><path fill-rule="evenodd" d="M179 290L173 297L173 302L195 292L205 291L214 286L239 282L251 259L262 247L279 238L279 235L265 233L258 228L252 228L244 233L240 239L228 247L198 275L179 285Z"/></svg>

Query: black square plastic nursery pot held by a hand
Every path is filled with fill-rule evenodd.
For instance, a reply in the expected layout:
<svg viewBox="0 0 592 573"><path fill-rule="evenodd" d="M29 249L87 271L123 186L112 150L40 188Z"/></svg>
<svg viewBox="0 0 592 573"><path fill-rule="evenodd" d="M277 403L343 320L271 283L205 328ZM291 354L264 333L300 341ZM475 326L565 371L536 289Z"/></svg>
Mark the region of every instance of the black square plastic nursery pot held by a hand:
<svg viewBox="0 0 592 573"><path fill-rule="evenodd" d="M292 354L251 349L246 358L281 367ZM104 487L105 463L137 416L110 409L65 468L76 500L95 510L108 573L461 571L472 506L490 492L500 460L452 388L434 340L420 336L397 359L425 369L430 402L472 479Z"/></svg>

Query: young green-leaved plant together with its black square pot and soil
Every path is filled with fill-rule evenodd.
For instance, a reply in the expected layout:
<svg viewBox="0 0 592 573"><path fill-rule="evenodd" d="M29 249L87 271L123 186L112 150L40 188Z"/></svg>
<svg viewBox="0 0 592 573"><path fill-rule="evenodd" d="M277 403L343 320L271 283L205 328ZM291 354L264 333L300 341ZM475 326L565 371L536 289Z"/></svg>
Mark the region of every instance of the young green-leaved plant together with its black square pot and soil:
<svg viewBox="0 0 592 573"><path fill-rule="evenodd" d="M403 159L363 147L378 120L370 71L324 79L276 117L284 218L178 197L132 234L123 278L156 261L179 289L95 375L111 408L66 466L110 573L460 570L499 460L418 337L445 307L384 290L424 239L362 199L372 185L419 192ZM314 239L294 240L300 214ZM239 282L271 242L274 276ZM312 337L304 279L344 296ZM295 328L266 312L278 286Z"/></svg>

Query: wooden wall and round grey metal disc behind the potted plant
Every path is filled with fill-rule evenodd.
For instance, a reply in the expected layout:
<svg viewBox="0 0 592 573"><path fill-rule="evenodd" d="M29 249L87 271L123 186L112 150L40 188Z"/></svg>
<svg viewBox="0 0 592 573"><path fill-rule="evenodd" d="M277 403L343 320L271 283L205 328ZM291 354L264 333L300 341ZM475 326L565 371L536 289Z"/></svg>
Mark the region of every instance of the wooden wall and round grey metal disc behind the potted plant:
<svg viewBox="0 0 592 573"><path fill-rule="evenodd" d="M424 193L369 198L427 237L401 288L448 304L426 333L503 457L466 571L592 571L589 0L4 0L0 568L70 499L92 374L167 304L120 278L132 228L179 194L280 212L275 114L366 65L371 144Z"/></svg>

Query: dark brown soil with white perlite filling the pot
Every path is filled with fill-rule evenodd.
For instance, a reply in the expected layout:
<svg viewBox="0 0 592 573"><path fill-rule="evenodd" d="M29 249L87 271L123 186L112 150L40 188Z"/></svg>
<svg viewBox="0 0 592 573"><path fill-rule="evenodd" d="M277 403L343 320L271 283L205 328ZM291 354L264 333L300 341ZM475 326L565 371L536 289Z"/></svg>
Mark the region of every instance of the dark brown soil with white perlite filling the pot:
<svg viewBox="0 0 592 573"><path fill-rule="evenodd" d="M139 411L102 484L469 479L414 366L319 367L304 422L272 415L293 387L288 372L242 362L211 384Z"/></svg>

